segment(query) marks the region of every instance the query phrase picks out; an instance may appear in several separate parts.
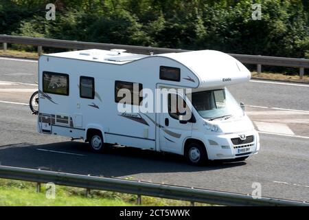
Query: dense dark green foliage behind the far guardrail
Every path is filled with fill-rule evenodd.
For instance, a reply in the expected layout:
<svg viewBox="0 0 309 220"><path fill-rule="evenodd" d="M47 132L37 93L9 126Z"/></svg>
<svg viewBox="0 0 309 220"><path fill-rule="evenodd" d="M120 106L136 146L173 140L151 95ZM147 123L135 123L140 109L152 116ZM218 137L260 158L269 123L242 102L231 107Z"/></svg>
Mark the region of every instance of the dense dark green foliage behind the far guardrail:
<svg viewBox="0 0 309 220"><path fill-rule="evenodd" d="M56 21L45 5L56 5ZM253 21L252 4L262 4ZM2 0L0 34L309 58L308 0Z"/></svg>

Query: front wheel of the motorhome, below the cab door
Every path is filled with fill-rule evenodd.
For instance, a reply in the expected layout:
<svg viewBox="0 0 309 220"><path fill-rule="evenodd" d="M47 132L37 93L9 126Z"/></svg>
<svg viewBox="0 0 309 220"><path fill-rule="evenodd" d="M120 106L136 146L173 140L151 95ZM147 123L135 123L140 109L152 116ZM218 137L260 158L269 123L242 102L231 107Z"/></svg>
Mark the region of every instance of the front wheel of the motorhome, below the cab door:
<svg viewBox="0 0 309 220"><path fill-rule="evenodd" d="M205 165L208 161L207 151L205 146L192 142L185 148L185 157L187 162L194 166Z"/></svg>

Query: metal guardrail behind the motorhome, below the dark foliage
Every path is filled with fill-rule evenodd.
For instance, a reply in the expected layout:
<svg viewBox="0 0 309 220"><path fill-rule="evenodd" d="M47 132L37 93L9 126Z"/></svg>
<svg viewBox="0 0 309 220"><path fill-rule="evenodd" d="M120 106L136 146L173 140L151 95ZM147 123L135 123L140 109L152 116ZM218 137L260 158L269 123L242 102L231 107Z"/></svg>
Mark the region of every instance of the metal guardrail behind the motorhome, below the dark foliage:
<svg viewBox="0 0 309 220"><path fill-rule="evenodd" d="M168 49L159 47L140 47L131 45L117 45L112 43L90 43L81 41L65 41L57 39L43 39L27 36L10 36L0 34L0 42L3 43L3 50L7 50L8 43L33 45L38 47L38 54L41 55L43 47L55 47L71 50L87 50L87 49L124 49L131 53L137 54L164 54L174 52L188 52L189 50ZM299 68L299 77L303 78L304 69L309 69L309 59L304 58L285 58L276 56L258 56L258 55L245 55L245 54L230 54L238 61L247 64L257 65L258 73L262 72L262 65L278 66L278 67L295 67Z"/></svg>

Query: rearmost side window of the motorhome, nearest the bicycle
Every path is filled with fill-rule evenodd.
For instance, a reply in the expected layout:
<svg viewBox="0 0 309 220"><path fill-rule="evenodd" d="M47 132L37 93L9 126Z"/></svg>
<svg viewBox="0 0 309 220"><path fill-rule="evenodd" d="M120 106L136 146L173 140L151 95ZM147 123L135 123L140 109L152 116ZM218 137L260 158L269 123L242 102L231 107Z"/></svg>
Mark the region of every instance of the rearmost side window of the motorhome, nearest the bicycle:
<svg viewBox="0 0 309 220"><path fill-rule="evenodd" d="M69 75L43 72L43 92L69 96Z"/></svg>

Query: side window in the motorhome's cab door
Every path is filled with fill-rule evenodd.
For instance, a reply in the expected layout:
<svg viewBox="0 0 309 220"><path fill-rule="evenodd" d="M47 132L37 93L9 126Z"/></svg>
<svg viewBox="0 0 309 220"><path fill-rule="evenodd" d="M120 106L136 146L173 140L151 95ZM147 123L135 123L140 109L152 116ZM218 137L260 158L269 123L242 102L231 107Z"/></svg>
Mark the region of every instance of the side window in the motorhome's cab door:
<svg viewBox="0 0 309 220"><path fill-rule="evenodd" d="M171 118L179 120L179 115L185 113L186 110L187 104L181 96L176 94L168 94L168 113Z"/></svg>

